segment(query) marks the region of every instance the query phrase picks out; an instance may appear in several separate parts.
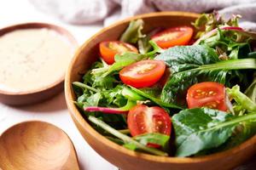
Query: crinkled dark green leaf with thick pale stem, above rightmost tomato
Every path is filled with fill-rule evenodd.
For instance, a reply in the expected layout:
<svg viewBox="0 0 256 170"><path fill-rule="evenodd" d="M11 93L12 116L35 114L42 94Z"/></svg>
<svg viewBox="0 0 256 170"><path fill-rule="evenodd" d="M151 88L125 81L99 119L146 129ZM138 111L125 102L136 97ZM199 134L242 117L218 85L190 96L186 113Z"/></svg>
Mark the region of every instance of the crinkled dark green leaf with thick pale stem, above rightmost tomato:
<svg viewBox="0 0 256 170"><path fill-rule="evenodd" d="M168 48L155 59L164 60L172 73L162 90L162 101L180 105L185 105L186 90L197 82L226 82L230 86L227 82L232 70L256 69L256 59L220 60L205 45Z"/></svg>

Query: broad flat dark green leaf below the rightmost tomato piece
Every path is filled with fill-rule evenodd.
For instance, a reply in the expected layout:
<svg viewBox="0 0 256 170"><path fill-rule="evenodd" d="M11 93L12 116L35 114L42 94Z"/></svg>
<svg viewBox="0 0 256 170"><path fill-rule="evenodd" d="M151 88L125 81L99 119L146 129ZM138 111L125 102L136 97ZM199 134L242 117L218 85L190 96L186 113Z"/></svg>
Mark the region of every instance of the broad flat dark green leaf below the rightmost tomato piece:
<svg viewBox="0 0 256 170"><path fill-rule="evenodd" d="M256 118L256 114L232 116L208 108L183 110L172 116L176 134L176 156L192 156L202 150L217 148L230 139L240 122Z"/></svg>

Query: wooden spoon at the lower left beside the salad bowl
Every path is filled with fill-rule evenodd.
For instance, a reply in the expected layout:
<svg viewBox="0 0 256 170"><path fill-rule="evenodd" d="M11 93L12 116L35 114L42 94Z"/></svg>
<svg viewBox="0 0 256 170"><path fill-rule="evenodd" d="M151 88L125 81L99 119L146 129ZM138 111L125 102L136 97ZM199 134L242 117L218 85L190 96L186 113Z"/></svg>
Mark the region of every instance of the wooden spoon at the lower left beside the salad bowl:
<svg viewBox="0 0 256 170"><path fill-rule="evenodd" d="M0 169L79 170L72 141L47 122L21 122L0 137Z"/></svg>

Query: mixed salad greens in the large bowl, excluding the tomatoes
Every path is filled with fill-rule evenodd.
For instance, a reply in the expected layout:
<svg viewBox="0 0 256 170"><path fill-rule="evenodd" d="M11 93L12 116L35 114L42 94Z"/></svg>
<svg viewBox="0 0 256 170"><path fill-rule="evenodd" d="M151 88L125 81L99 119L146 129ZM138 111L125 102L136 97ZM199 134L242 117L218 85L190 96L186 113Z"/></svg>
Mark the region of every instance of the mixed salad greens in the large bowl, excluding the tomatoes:
<svg viewBox="0 0 256 170"><path fill-rule="evenodd" d="M256 133L256 55L255 34L242 30L239 18L202 14L193 24L198 30L194 44L166 49L150 40L157 30L144 32L143 20L131 21L119 40L137 46L139 53L115 54L113 65L96 61L80 82L73 82L74 103L98 132L129 150L202 156L241 144ZM119 71L145 59L164 61L165 77L146 88L123 83ZM200 82L224 84L227 111L188 108L188 89ZM163 108L172 120L172 135L132 137L127 114L136 105Z"/></svg>

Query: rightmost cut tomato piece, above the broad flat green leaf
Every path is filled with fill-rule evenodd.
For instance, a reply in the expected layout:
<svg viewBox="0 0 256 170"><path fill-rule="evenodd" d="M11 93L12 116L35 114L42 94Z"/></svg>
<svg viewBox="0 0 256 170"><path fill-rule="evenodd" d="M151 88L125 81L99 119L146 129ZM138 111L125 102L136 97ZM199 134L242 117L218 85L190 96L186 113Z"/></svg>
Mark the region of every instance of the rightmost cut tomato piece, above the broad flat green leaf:
<svg viewBox="0 0 256 170"><path fill-rule="evenodd" d="M189 108L208 107L227 111L225 87L218 82L200 82L191 86L187 94Z"/></svg>

